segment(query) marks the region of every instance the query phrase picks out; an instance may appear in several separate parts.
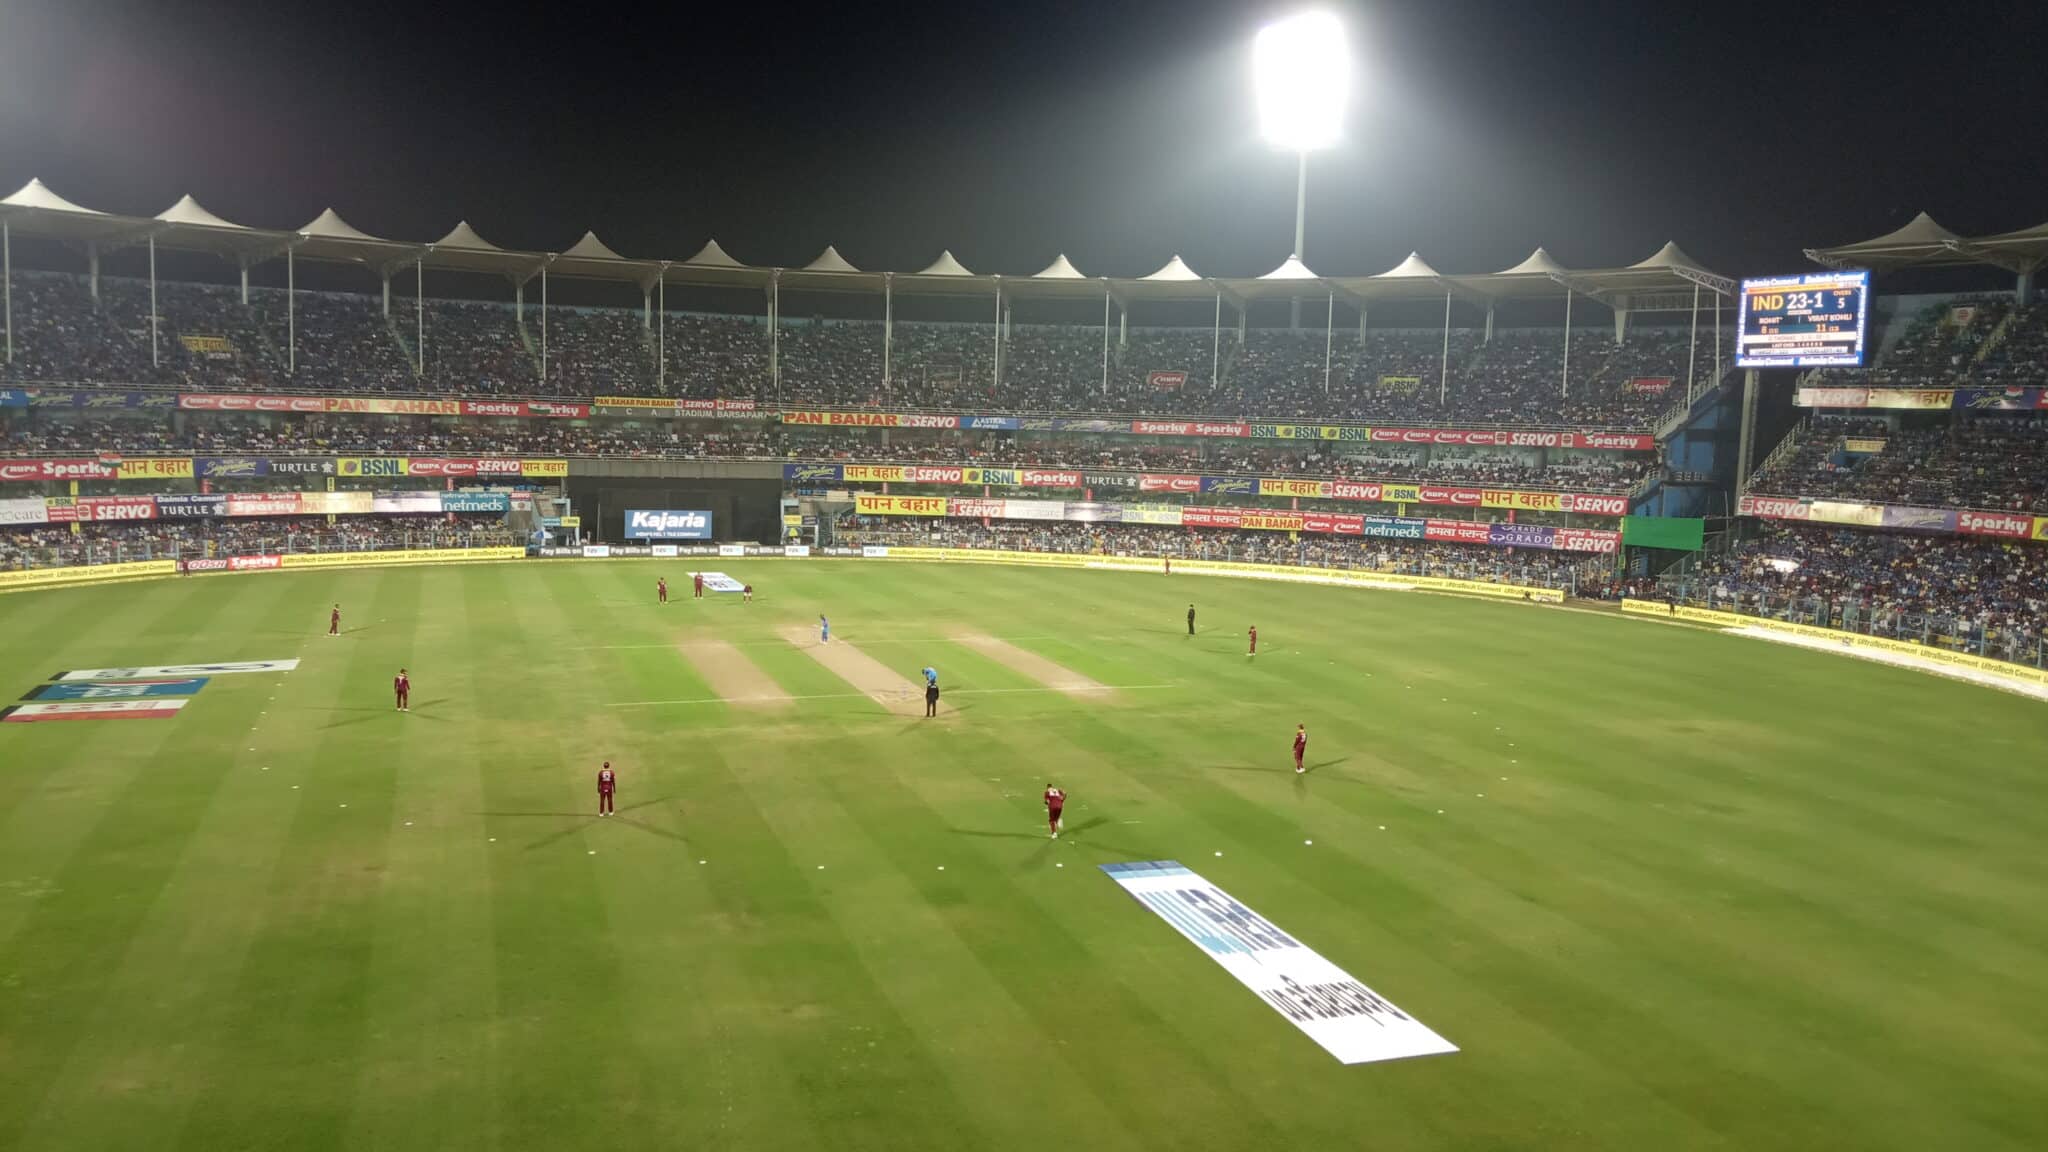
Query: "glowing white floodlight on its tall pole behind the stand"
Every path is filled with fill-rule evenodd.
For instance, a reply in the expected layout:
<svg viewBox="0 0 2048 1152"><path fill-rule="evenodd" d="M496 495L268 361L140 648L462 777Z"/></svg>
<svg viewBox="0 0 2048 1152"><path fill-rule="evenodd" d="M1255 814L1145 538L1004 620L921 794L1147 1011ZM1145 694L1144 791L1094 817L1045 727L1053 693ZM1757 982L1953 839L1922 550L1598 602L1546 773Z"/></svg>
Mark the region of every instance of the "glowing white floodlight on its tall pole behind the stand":
<svg viewBox="0 0 2048 1152"><path fill-rule="evenodd" d="M1294 176L1294 258L1309 223L1309 154L1343 135L1352 51L1335 12L1309 10L1274 20L1251 41L1260 133L1298 160ZM1300 328L1300 299L1294 301Z"/></svg>

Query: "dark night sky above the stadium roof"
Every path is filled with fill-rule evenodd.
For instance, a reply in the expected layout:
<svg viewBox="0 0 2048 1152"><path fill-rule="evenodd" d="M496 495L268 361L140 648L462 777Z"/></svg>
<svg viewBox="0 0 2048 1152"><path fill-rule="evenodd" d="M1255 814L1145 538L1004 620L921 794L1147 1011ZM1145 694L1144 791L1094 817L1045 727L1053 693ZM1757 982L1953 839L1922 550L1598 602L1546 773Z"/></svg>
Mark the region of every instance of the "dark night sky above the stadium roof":
<svg viewBox="0 0 2048 1152"><path fill-rule="evenodd" d="M1677 240L1729 273L1903 223L2048 219L2040 4L1341 6L1348 139L1311 160L1309 264L1417 248L1493 271ZM0 0L0 184L629 256L827 242L985 273L1257 275L1294 162L1255 133L1249 37L1286 8Z"/></svg>

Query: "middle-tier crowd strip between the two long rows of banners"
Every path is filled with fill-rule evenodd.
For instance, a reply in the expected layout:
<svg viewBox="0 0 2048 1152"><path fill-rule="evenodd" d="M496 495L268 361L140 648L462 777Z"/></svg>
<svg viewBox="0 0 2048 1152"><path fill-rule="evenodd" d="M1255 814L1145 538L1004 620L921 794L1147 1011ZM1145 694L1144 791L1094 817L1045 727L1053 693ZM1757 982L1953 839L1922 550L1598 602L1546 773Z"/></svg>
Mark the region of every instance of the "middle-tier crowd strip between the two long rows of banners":
<svg viewBox="0 0 2048 1152"><path fill-rule="evenodd" d="M858 463L973 463L1165 474L1430 480L1628 492L1651 469L1645 453L1343 445L1298 449L1231 443L1184 447L1108 437L879 433L756 422L487 420L408 416L123 414L0 418L0 455L582 455L715 457Z"/></svg>

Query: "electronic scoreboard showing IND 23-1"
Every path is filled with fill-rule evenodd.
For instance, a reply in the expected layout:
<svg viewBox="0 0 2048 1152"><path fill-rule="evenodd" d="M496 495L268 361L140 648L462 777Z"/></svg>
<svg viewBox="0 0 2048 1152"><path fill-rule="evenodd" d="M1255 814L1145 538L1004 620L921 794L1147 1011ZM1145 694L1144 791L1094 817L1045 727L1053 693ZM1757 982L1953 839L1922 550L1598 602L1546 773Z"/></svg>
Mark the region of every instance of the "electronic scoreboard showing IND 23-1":
<svg viewBox="0 0 2048 1152"><path fill-rule="evenodd" d="M1862 367L1870 273L1743 281L1739 316L1737 367Z"/></svg>

